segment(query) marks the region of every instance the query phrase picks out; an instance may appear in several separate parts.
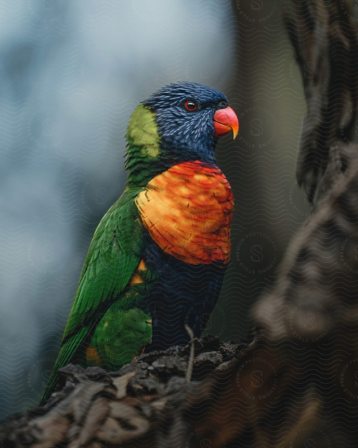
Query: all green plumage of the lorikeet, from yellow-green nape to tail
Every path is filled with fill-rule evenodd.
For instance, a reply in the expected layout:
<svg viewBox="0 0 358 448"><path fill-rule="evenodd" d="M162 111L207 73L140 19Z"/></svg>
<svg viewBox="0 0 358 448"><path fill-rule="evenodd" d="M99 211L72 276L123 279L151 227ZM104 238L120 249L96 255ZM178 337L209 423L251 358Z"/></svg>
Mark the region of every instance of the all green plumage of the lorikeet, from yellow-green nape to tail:
<svg viewBox="0 0 358 448"><path fill-rule="evenodd" d="M91 241L59 356L40 404L56 382L57 370L73 360L86 362L85 350L99 352L103 366L119 368L151 340L151 316L139 309L153 275L128 287L141 257L143 229L136 196L160 164L155 114L144 105L130 117L126 138L128 188L99 223ZM104 314L103 314L104 313Z"/></svg>

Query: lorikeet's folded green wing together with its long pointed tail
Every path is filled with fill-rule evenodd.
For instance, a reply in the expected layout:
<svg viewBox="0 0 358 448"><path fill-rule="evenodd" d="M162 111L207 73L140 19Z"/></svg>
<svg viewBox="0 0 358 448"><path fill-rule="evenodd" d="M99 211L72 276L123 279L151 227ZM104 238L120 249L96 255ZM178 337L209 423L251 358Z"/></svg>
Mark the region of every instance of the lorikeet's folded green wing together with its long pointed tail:
<svg viewBox="0 0 358 448"><path fill-rule="evenodd" d="M86 340L96 312L100 307L103 311L103 307L111 305L111 301L125 289L138 266L142 227L134 198L140 191L142 189L127 189L104 215L95 231L65 327L60 353L40 404L51 391L57 370L73 358Z"/></svg>

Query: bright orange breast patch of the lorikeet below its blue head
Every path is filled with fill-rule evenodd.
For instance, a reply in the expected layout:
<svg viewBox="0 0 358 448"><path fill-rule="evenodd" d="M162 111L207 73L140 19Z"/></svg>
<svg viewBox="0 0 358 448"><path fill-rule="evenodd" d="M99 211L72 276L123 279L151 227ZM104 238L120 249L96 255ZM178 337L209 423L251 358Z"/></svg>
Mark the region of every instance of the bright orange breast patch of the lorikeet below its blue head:
<svg viewBox="0 0 358 448"><path fill-rule="evenodd" d="M233 193L219 168L199 161L177 164L155 176L136 204L167 254L192 264L229 263Z"/></svg>

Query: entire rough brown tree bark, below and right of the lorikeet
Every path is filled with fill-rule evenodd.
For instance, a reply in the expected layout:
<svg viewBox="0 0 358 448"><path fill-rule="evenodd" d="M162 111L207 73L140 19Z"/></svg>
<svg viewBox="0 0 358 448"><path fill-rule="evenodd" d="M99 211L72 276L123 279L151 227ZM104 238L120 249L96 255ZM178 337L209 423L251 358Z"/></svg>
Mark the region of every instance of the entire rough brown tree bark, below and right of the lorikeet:
<svg viewBox="0 0 358 448"><path fill-rule="evenodd" d="M305 82L298 181L313 213L254 308L254 340L205 336L194 358L152 352L117 373L67 366L47 407L3 424L4 446L356 446L356 22L344 0L285 2L283 18Z"/></svg>

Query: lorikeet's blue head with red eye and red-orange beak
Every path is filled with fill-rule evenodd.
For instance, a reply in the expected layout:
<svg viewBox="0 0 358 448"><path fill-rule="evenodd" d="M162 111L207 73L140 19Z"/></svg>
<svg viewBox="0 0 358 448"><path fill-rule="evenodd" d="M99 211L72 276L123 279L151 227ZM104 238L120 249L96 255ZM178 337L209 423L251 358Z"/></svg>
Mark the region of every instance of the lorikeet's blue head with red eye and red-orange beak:
<svg viewBox="0 0 358 448"><path fill-rule="evenodd" d="M215 162L217 138L238 132L226 96L196 82L169 84L143 103L155 113L162 150L176 161Z"/></svg>

